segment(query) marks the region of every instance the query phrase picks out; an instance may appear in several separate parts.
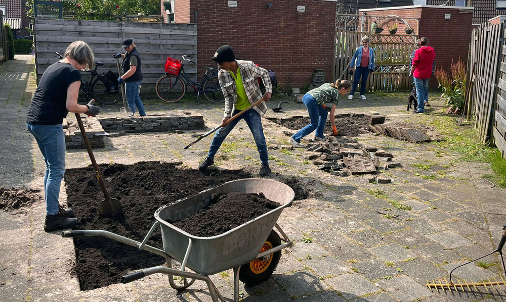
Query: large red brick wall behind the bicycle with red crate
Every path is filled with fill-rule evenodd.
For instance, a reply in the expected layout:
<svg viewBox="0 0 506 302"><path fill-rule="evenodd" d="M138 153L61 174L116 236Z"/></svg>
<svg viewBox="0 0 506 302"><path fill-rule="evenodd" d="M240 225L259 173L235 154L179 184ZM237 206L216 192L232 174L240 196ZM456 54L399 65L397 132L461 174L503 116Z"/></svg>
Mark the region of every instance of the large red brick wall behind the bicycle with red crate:
<svg viewBox="0 0 506 302"><path fill-rule="evenodd" d="M188 11L178 11L187 3ZM331 81L335 2L277 0L272 8L257 0L237 3L229 8L224 0L176 0L176 22L197 24L199 78L204 66L216 66L210 59L216 49L229 44L236 57L276 71L282 89L309 85L316 68ZM306 12L297 12L298 5Z"/></svg>

